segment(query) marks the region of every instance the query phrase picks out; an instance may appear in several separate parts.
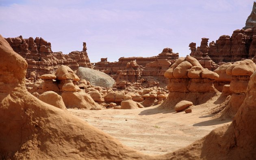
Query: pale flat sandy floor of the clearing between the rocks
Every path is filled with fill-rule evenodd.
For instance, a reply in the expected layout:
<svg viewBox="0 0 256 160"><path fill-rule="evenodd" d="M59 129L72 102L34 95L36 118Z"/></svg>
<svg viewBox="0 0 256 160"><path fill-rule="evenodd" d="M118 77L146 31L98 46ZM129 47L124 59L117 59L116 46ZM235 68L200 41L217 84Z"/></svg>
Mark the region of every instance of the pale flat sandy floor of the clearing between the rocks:
<svg viewBox="0 0 256 160"><path fill-rule="evenodd" d="M231 120L208 115L216 98L192 108L192 113L143 109L98 111L68 109L89 124L115 137L124 145L147 154L165 154L193 143Z"/></svg>

